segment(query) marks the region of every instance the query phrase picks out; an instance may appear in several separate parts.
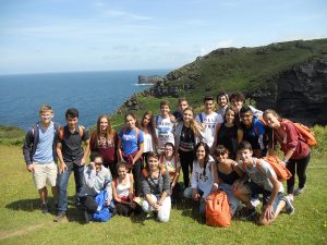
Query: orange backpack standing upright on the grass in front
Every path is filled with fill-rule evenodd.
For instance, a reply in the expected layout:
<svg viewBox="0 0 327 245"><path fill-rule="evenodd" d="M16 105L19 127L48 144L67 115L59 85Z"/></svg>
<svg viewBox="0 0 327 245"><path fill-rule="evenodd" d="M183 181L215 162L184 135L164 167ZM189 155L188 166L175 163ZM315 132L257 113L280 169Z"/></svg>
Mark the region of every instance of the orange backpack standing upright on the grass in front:
<svg viewBox="0 0 327 245"><path fill-rule="evenodd" d="M211 193L206 199L206 224L227 228L231 225L231 211L225 192Z"/></svg>

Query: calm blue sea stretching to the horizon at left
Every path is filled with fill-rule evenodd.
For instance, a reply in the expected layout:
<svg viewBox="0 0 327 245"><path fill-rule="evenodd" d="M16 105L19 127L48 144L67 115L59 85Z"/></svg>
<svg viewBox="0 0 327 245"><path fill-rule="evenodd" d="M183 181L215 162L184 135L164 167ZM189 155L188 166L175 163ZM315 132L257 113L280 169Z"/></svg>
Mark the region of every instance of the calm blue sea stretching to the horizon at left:
<svg viewBox="0 0 327 245"><path fill-rule="evenodd" d="M138 75L166 75L168 70L72 72L0 76L0 124L24 130L39 120L44 103L55 112L53 121L65 123L70 107L80 111L80 123L88 127L101 113L114 112L134 93Z"/></svg>

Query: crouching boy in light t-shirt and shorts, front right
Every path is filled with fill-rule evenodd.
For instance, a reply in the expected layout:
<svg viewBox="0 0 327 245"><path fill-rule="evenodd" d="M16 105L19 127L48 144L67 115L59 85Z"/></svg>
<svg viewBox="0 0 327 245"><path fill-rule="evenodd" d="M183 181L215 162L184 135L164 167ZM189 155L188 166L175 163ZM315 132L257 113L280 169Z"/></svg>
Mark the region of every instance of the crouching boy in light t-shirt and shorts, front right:
<svg viewBox="0 0 327 245"><path fill-rule="evenodd" d="M292 215L294 207L290 198L283 196L282 183L278 181L270 164L263 159L252 157L252 147L247 142L240 143L238 154L241 161L237 171L245 177L234 182L234 195L247 206L252 195L263 195L263 211L258 223L269 225L282 209Z"/></svg>

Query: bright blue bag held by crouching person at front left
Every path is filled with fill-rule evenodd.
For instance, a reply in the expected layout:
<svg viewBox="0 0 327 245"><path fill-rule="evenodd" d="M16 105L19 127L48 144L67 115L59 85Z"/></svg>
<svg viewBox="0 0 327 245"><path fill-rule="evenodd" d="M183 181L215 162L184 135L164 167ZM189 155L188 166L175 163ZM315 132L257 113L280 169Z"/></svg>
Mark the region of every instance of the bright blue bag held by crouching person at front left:
<svg viewBox="0 0 327 245"><path fill-rule="evenodd" d="M111 207L113 207L113 203L108 206L106 200L108 198L108 193L106 191L101 191L96 197L95 201L98 204L98 209L96 212L92 213L92 219L98 222L107 222L112 217Z"/></svg>

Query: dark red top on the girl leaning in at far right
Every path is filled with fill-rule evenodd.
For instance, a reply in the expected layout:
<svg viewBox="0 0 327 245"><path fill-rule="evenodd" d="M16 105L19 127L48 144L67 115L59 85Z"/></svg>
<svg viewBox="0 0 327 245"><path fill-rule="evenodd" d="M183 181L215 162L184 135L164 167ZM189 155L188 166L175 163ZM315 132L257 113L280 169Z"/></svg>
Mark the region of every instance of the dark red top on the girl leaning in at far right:
<svg viewBox="0 0 327 245"><path fill-rule="evenodd" d="M287 151L289 151L290 149L295 148L295 151L293 152L291 159L298 160L306 157L310 154L310 148L306 143L300 140L301 135L298 132L295 125L291 121L286 119L282 119L280 124L284 130L286 135L282 138L277 134L276 131L274 131L274 144L276 144L277 139L283 154L287 154Z"/></svg>

